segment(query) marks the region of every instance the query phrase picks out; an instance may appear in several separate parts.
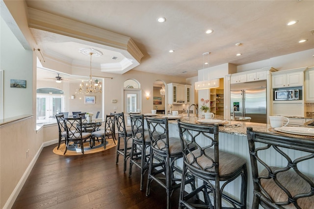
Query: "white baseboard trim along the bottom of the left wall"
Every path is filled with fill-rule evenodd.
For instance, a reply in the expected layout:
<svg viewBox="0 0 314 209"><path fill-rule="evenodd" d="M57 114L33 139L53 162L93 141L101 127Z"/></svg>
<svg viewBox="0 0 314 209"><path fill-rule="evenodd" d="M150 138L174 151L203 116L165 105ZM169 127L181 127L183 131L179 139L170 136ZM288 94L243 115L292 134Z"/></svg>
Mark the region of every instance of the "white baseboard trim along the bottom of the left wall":
<svg viewBox="0 0 314 209"><path fill-rule="evenodd" d="M47 146L50 146L50 145L53 145L53 144L56 144L58 143L58 139L53 139L49 142L44 142L41 147L38 149L38 151L36 152L34 158L31 160L31 162L29 163L26 171L24 172L22 178L19 180L18 184L16 185L16 187L14 188L12 194L10 195L8 201L5 203L5 205L3 206L3 209L11 209L16 198L18 197L20 191L22 190L25 182L26 182L26 179L28 178L31 170L33 169L41 151L43 150L44 147L47 147Z"/></svg>

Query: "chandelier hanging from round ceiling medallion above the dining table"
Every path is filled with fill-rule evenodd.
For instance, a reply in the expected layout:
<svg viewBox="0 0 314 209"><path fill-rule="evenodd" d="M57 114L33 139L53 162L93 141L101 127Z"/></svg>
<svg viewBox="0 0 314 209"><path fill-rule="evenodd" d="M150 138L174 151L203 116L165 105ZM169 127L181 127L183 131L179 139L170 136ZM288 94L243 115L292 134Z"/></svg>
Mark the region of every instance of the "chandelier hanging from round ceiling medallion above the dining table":
<svg viewBox="0 0 314 209"><path fill-rule="evenodd" d="M102 56L103 53L97 49L93 48L84 48L79 50L84 55L90 55L90 74L89 74L89 80L84 84L82 83L79 85L79 92L85 92L86 94L90 93L97 93L102 92L102 83L99 82L97 79L95 82L92 80L92 56L99 57Z"/></svg>

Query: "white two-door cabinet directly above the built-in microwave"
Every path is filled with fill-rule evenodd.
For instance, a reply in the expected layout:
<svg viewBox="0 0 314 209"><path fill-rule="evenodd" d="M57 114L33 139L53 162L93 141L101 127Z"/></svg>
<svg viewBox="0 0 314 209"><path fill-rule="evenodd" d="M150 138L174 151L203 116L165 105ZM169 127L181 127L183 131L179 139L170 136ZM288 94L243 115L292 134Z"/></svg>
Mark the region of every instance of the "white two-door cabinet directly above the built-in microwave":
<svg viewBox="0 0 314 209"><path fill-rule="evenodd" d="M304 83L304 68L272 73L272 88L300 87Z"/></svg>

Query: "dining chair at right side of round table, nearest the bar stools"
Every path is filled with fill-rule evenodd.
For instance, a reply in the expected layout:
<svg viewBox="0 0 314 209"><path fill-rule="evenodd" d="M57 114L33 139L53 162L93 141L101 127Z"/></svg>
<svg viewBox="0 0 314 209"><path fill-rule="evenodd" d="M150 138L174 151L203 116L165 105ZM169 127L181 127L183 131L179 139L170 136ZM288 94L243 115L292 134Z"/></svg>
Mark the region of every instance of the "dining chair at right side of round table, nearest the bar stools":
<svg viewBox="0 0 314 209"><path fill-rule="evenodd" d="M114 115L106 115L105 129L94 131L92 133L93 146L95 146L95 141L97 138L102 139L102 143L104 143L104 149L106 149L106 139L111 138L114 144L116 144Z"/></svg>

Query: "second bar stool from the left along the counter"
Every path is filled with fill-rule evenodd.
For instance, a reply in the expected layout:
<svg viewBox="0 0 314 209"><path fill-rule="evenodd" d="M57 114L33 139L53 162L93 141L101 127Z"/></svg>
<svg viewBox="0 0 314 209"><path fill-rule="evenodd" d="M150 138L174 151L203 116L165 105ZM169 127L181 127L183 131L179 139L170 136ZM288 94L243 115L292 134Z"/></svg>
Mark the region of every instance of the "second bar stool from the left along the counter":
<svg viewBox="0 0 314 209"><path fill-rule="evenodd" d="M149 147L151 140L148 131L144 129L144 115L130 114L132 130L132 147L130 154L129 177L132 175L132 166L136 165L140 170L140 190L143 190L144 174L149 165Z"/></svg>

